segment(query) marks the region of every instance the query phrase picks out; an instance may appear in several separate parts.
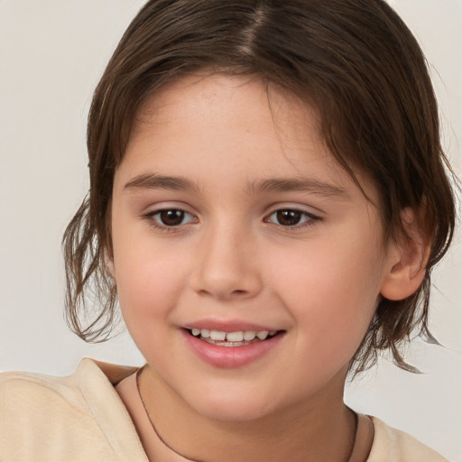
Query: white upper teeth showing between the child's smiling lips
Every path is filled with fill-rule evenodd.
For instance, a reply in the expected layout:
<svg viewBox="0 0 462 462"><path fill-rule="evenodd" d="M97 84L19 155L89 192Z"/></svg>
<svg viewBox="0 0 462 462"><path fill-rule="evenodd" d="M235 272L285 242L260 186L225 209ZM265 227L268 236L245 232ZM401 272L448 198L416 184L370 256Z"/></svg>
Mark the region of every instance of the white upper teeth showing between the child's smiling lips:
<svg viewBox="0 0 462 462"><path fill-rule="evenodd" d="M282 330L240 330L236 332L223 332L207 328L187 330L191 336L219 347L244 347L269 340L282 333Z"/></svg>

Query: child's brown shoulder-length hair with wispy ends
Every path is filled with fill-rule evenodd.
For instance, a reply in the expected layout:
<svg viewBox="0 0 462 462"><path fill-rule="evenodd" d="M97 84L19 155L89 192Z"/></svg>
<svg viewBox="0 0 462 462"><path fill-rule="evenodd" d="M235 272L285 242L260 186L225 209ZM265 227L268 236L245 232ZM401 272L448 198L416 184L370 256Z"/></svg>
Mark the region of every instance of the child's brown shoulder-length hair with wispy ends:
<svg viewBox="0 0 462 462"><path fill-rule="evenodd" d="M350 365L358 373L390 350L396 365L417 371L402 347L411 334L436 341L428 326L430 273L452 239L455 202L426 60L383 0L151 0L143 6L88 115L90 189L63 237L69 326L87 341L110 336L117 297L106 258L115 169L145 98L202 69L261 76L314 107L337 162L354 180L354 171L373 180L385 239L405 236L403 208L419 217L430 241L420 290L380 301Z"/></svg>

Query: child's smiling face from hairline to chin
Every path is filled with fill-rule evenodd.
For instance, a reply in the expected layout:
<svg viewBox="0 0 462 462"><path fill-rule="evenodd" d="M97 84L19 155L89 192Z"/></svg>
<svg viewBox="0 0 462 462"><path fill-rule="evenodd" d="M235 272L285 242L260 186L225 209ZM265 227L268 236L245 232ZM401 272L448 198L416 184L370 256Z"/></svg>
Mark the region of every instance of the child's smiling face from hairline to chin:
<svg viewBox="0 0 462 462"><path fill-rule="evenodd" d="M341 396L390 264L310 107L251 77L163 89L115 173L112 233L127 328L194 410L246 420Z"/></svg>

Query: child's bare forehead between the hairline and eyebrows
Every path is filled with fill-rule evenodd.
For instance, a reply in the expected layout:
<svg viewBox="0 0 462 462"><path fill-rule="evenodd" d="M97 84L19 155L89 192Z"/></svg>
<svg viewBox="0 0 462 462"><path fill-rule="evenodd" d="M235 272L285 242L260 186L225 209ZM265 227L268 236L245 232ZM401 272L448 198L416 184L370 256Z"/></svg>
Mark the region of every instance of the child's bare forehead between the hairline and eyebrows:
<svg viewBox="0 0 462 462"><path fill-rule="evenodd" d="M199 183L205 174L217 187L235 173L247 189L300 177L357 189L324 143L318 112L258 76L199 74L155 92L138 110L119 171Z"/></svg>

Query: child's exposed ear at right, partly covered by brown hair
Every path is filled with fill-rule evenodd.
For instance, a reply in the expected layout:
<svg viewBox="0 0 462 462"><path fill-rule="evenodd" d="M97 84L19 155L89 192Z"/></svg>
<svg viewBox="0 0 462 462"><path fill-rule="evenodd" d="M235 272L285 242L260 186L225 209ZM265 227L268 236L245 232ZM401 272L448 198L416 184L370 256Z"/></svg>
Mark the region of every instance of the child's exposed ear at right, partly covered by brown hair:
<svg viewBox="0 0 462 462"><path fill-rule="evenodd" d="M388 300L403 300L419 290L426 273L430 240L425 236L415 212L401 212L405 235L388 249L381 295Z"/></svg>

